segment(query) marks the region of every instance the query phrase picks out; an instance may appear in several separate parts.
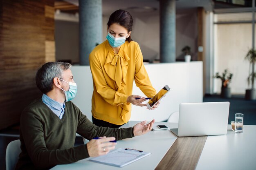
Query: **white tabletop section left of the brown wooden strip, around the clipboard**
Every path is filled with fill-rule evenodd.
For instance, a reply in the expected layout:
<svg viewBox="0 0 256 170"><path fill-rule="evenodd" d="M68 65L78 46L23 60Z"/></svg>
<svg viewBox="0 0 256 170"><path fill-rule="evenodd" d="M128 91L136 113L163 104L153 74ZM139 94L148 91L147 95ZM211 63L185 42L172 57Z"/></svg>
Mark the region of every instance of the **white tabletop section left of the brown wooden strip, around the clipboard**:
<svg viewBox="0 0 256 170"><path fill-rule="evenodd" d="M124 128L132 127L139 121L129 121L125 124ZM166 125L168 128L177 128L177 123L168 122L155 122L153 128L157 128L156 125ZM138 150L145 150L150 152L151 155L144 157L138 161L135 161L127 166L121 168L122 170L154 170L161 159L164 157L166 152L171 148L172 144L175 142L177 137L170 130L159 130L150 131L145 135L133 137L132 139L123 139L117 141L116 148L132 148ZM66 165L58 165L51 170L120 170L118 167L103 165L100 163L94 163L88 161L88 159L83 159L75 163L70 163Z"/></svg>

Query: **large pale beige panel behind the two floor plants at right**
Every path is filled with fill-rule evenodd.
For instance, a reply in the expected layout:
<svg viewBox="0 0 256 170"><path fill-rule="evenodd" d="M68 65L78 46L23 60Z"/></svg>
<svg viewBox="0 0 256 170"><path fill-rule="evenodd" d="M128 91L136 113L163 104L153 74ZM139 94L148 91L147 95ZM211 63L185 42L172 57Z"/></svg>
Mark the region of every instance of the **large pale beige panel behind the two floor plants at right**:
<svg viewBox="0 0 256 170"><path fill-rule="evenodd" d="M245 55L252 48L252 24L217 24L214 29L214 74L228 68L233 73L229 84L231 93L245 94L249 75L249 61L245 60ZM221 80L214 79L214 92L220 93L220 90Z"/></svg>

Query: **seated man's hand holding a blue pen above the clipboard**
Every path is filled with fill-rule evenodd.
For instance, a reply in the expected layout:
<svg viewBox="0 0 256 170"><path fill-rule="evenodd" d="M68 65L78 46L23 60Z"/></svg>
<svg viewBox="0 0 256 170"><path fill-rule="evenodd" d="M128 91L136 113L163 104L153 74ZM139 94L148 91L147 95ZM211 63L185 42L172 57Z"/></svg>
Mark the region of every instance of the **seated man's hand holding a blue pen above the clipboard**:
<svg viewBox="0 0 256 170"><path fill-rule="evenodd" d="M115 137L101 137L100 139L90 140L86 146L90 157L98 157L106 155L110 150L115 149L117 143L114 141Z"/></svg>

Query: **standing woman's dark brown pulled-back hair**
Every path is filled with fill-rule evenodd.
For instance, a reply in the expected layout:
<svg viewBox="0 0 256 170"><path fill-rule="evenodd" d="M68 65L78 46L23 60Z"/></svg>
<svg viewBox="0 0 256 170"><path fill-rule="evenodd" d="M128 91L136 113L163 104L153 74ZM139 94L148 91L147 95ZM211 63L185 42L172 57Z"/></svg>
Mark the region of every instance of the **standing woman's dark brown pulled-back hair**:
<svg viewBox="0 0 256 170"><path fill-rule="evenodd" d="M130 15L130 13L127 11L119 9L110 15L107 25L109 29L110 25L118 23L119 25L124 26L129 33L130 31L132 31L132 22L132 15ZM132 41L131 35L126 38L126 41Z"/></svg>

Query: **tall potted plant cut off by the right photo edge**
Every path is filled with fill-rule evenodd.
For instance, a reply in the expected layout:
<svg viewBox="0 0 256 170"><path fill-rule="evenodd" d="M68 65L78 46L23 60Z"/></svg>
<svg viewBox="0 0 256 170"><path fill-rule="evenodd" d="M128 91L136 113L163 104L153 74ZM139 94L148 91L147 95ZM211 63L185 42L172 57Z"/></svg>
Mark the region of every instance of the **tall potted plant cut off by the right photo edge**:
<svg viewBox="0 0 256 170"><path fill-rule="evenodd" d="M254 72L254 65L256 61L256 50L250 49L245 56L246 60L249 60L249 76L247 78L248 89L245 91L245 99L255 100L256 99L256 89L254 88L254 80L256 79L256 73ZM252 69L251 69L252 67ZM251 88L249 86L251 85Z"/></svg>

